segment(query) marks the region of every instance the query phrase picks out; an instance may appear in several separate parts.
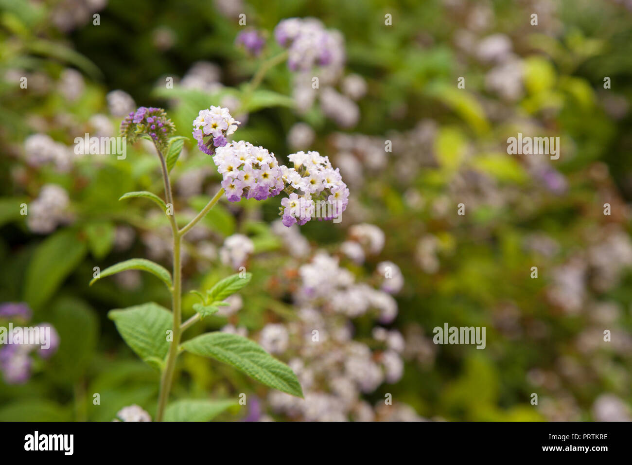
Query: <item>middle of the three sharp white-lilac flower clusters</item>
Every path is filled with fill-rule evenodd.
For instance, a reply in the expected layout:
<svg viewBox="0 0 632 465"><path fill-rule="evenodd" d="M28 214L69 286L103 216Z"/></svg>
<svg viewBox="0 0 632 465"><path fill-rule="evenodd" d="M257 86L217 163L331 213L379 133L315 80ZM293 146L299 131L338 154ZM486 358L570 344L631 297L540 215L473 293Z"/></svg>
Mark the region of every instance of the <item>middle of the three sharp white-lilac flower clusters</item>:
<svg viewBox="0 0 632 465"><path fill-rule="evenodd" d="M283 189L282 171L274 154L250 142L231 142L217 147L213 161L222 175L222 187L229 202L265 200Z"/></svg>

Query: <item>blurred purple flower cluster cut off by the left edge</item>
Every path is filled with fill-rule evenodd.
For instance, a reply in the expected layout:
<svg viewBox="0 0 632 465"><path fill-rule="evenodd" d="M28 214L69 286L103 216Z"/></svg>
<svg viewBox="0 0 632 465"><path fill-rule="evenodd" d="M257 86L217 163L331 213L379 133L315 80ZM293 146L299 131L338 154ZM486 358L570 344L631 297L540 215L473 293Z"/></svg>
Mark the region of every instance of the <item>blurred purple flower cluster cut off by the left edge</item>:
<svg viewBox="0 0 632 465"><path fill-rule="evenodd" d="M0 304L0 319L9 319L26 323L31 318L31 310L26 304L16 304L7 302ZM0 348L0 371L4 381L8 384L23 384L28 381L33 370L33 359L31 353L37 350L37 354L42 359L49 359L59 347L59 335L50 323L40 323L35 328L39 332L44 332L50 328L49 339L46 348L35 344L29 344L23 340L21 328L15 327L13 333L13 343L3 344Z"/></svg>

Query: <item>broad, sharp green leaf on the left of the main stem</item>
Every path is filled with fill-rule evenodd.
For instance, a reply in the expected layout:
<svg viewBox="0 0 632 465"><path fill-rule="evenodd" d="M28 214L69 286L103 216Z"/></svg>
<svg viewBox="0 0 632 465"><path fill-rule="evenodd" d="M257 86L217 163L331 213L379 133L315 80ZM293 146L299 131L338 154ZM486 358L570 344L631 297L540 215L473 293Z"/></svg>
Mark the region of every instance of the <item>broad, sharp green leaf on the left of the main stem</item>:
<svg viewBox="0 0 632 465"><path fill-rule="evenodd" d="M110 310L107 318L114 321L123 340L140 358L154 367L162 364L169 351L167 331L173 323L169 310L149 302Z"/></svg>

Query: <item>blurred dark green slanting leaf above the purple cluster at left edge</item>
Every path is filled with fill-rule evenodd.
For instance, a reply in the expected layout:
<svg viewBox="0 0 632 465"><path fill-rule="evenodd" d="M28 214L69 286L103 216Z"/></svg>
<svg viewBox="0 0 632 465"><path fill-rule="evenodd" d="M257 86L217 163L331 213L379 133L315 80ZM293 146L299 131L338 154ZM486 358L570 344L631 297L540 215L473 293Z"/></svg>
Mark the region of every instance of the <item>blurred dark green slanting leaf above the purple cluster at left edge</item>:
<svg viewBox="0 0 632 465"><path fill-rule="evenodd" d="M24 300L39 309L75 270L87 252L85 242L74 230L56 232L37 246L28 264Z"/></svg>

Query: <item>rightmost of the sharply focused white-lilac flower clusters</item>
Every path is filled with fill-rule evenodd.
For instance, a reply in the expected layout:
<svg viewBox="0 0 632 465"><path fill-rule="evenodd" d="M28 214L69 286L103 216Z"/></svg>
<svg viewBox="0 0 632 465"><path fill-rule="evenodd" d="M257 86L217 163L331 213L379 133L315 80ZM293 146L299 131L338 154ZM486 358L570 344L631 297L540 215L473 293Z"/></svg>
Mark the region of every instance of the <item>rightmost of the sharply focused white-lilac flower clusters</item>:
<svg viewBox="0 0 632 465"><path fill-rule="evenodd" d="M296 152L288 155L293 168L282 166L283 180L289 197L281 201L283 224L304 225L312 216L320 220L338 218L349 203L349 189L340 171L332 168L329 158L319 152ZM295 191L300 191L297 194Z"/></svg>

